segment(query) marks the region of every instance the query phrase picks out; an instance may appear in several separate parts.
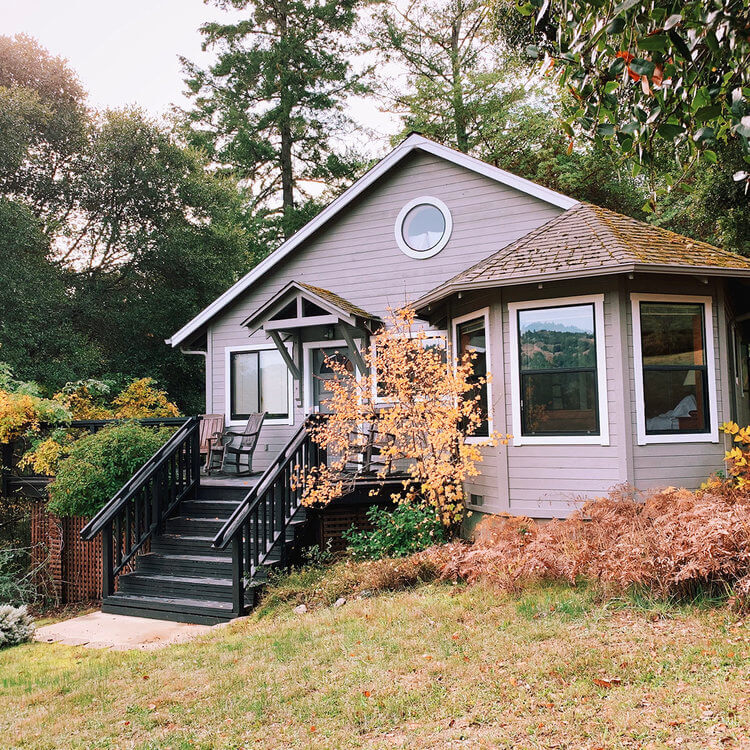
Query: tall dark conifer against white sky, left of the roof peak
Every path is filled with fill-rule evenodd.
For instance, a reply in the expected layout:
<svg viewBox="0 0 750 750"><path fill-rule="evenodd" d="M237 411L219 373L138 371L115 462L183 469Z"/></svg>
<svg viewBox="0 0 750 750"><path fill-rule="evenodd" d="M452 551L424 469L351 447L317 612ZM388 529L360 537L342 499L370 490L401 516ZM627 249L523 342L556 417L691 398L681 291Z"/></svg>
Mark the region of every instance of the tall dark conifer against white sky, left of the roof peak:
<svg viewBox="0 0 750 750"><path fill-rule="evenodd" d="M307 218L311 183L334 188L360 167L334 134L349 126L344 98L364 91L348 41L363 0L213 2L247 17L202 27L204 48L218 54L210 68L183 59L194 101L188 138L248 186L262 223L288 237Z"/></svg>

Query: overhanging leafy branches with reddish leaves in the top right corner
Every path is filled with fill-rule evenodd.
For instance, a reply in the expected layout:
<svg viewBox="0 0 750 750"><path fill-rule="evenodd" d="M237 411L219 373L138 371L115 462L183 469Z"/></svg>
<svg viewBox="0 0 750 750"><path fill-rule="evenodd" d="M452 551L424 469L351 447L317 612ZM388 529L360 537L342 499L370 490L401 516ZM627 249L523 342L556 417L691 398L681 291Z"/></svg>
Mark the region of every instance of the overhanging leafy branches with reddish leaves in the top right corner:
<svg viewBox="0 0 750 750"><path fill-rule="evenodd" d="M717 163L717 144L733 139L750 162L748 0L527 0L520 11L547 43L529 53L573 95L571 137L576 125L652 175L665 144L684 171Z"/></svg>

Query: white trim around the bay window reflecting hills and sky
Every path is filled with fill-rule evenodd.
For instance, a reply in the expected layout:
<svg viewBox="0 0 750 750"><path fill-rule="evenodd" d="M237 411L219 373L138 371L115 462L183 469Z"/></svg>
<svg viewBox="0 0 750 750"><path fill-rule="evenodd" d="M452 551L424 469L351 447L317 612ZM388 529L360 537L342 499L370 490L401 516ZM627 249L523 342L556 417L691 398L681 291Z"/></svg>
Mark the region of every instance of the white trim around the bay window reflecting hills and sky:
<svg viewBox="0 0 750 750"><path fill-rule="evenodd" d="M596 390L599 402L598 435L522 435L521 434L521 370L518 357L518 311L538 310L542 307L568 305L594 306L596 331ZM609 410L607 403L607 352L604 332L604 295L589 294L579 297L509 302L510 322L510 394L513 424L513 445L609 445Z"/></svg>

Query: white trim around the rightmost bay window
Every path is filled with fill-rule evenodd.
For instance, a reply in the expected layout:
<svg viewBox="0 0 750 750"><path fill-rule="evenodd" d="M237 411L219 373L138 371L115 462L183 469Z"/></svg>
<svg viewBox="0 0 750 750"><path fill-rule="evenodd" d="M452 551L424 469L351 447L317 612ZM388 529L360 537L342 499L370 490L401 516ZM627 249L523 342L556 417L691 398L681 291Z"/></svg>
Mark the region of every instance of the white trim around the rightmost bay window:
<svg viewBox="0 0 750 750"><path fill-rule="evenodd" d="M711 431L689 435L647 435L643 392L643 352L641 351L641 302L693 302L703 305L703 330L706 336L706 377L708 380L708 418ZM635 408L638 445L652 443L718 443L719 414L716 401L716 362L714 352L714 315L711 297L682 294L631 294L633 321L633 367L635 368Z"/></svg>

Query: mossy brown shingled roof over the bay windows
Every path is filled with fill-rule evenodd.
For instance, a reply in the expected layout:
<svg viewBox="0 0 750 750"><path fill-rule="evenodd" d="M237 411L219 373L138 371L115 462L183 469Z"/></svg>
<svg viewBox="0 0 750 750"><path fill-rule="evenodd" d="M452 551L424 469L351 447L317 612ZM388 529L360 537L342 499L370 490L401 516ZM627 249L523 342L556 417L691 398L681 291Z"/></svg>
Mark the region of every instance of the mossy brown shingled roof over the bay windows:
<svg viewBox="0 0 750 750"><path fill-rule="evenodd" d="M629 272L750 276L750 258L600 206L579 203L414 303L454 292Z"/></svg>

